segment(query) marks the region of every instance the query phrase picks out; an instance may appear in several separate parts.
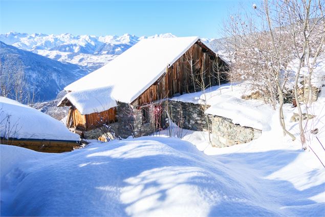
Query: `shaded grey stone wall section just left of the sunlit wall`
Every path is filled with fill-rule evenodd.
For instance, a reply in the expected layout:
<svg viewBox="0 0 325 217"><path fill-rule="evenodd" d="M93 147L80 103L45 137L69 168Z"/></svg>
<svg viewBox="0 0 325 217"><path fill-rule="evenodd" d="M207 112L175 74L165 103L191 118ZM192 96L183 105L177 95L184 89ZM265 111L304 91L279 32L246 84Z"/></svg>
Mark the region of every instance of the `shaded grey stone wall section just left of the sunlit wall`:
<svg viewBox="0 0 325 217"><path fill-rule="evenodd" d="M178 101L168 101L168 108L171 120L183 129L203 131L211 129L210 115L204 112L210 107L194 103L184 103Z"/></svg>

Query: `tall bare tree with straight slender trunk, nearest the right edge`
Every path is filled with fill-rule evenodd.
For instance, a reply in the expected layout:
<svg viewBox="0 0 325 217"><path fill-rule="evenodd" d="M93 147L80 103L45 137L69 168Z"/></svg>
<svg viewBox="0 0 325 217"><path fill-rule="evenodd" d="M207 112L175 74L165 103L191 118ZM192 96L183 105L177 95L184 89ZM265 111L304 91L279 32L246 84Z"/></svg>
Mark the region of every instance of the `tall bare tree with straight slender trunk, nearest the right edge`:
<svg viewBox="0 0 325 217"><path fill-rule="evenodd" d="M304 114L300 105L301 94L298 91L301 88L303 89L302 101L305 101L306 113L308 114L308 106L313 102L312 74L325 40L324 4L323 1L318 0L294 0L286 2L283 6L287 13L285 22L290 27L292 51L294 57L298 59L294 80L294 96L297 103L300 142L303 149L308 148L306 145L308 120L304 126ZM307 75L301 74L301 69L305 66L308 70ZM304 78L303 85L300 83L301 77ZM305 91L306 89L307 91ZM307 97L305 92L307 92Z"/></svg>

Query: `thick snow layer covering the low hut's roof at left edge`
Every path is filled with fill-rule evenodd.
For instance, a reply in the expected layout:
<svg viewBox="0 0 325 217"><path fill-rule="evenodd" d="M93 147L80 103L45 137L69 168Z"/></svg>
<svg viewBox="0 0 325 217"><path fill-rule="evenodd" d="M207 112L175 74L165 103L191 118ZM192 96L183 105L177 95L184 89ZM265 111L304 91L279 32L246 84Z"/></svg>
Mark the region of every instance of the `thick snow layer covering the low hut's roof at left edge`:
<svg viewBox="0 0 325 217"><path fill-rule="evenodd" d="M34 108L0 96L0 136L16 139L79 141L60 121Z"/></svg>

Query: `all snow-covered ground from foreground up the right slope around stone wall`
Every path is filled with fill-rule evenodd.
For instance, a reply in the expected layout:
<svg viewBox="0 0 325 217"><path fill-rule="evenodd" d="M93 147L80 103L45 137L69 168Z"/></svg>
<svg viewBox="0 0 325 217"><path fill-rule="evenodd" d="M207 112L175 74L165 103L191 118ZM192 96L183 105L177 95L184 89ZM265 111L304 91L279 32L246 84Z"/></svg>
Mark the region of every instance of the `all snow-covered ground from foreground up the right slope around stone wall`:
<svg viewBox="0 0 325 217"><path fill-rule="evenodd" d="M231 93L224 85L221 95L212 89L208 102L227 94L235 99L242 88L236 85ZM184 95L182 100L199 101L201 96ZM313 151L325 163L325 151L315 139L325 145L325 87L308 126L319 129L311 134L313 151L301 150L298 140L281 134L276 111L246 103L263 115L263 133L232 147L211 147L206 132L183 130L181 139L168 137L170 131L178 134L176 126L62 154L2 145L1 214L323 216L325 168ZM298 135L297 124L289 122L293 111L285 106L287 127Z"/></svg>

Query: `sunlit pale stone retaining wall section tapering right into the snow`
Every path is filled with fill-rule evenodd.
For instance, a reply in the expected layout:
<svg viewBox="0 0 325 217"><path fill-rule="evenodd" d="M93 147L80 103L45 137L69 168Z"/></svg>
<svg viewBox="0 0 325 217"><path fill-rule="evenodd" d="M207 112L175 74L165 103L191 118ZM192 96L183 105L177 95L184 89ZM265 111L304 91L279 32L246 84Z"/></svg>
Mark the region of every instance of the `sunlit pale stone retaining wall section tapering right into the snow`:
<svg viewBox="0 0 325 217"><path fill-rule="evenodd" d="M233 124L230 119L225 117L213 116L211 121L212 145L215 147L222 148L248 143L262 134L262 130Z"/></svg>

